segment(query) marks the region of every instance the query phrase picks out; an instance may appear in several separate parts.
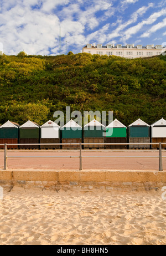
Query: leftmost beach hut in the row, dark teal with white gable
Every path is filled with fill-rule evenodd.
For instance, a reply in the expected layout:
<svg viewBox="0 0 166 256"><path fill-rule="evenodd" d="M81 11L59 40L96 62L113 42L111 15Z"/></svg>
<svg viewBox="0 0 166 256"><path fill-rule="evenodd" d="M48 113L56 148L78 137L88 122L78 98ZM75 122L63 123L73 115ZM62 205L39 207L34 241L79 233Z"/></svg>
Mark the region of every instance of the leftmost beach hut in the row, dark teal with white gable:
<svg viewBox="0 0 166 256"><path fill-rule="evenodd" d="M7 121L0 127L0 144L18 144L19 140L19 124ZM4 149L4 146L0 146ZM17 149L17 145L9 145L8 149Z"/></svg>

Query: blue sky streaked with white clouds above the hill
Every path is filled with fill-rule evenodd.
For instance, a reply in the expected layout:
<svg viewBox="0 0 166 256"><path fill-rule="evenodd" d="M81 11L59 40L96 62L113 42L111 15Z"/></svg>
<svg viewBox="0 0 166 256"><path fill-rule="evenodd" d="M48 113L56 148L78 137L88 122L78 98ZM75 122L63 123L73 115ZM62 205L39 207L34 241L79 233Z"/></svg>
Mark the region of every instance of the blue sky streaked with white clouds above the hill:
<svg viewBox="0 0 166 256"><path fill-rule="evenodd" d="M87 43L166 43L166 0L1 0L0 50L81 53ZM61 46L61 47L60 47Z"/></svg>

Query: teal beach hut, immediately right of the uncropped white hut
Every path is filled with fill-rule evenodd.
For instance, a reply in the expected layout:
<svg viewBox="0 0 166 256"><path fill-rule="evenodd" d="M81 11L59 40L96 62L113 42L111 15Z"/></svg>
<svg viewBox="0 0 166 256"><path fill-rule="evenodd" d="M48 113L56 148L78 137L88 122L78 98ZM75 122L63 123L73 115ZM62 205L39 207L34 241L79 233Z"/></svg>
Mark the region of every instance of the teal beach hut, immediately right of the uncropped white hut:
<svg viewBox="0 0 166 256"><path fill-rule="evenodd" d="M61 141L63 143L81 143L82 127L74 120L70 120L61 128ZM79 149L79 145L62 145L63 149Z"/></svg>

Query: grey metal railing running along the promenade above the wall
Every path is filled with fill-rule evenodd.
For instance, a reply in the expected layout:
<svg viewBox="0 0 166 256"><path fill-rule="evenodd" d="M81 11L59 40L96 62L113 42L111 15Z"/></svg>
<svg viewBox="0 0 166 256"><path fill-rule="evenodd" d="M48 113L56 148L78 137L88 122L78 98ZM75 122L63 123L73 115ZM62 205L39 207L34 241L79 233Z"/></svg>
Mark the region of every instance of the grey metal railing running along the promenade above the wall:
<svg viewBox="0 0 166 256"><path fill-rule="evenodd" d="M82 145L138 145L138 143L57 143L57 144L0 144L4 146L4 168L7 170L7 159L8 158L80 158L80 167L79 170L82 170L82 158L159 158L159 171L163 171L162 163L162 145L165 143L155 142L155 143L139 143L139 145L159 145L159 156L82 156ZM79 145L79 156L8 156L7 155L7 146L30 146L30 145ZM147 152L147 151L146 151Z"/></svg>

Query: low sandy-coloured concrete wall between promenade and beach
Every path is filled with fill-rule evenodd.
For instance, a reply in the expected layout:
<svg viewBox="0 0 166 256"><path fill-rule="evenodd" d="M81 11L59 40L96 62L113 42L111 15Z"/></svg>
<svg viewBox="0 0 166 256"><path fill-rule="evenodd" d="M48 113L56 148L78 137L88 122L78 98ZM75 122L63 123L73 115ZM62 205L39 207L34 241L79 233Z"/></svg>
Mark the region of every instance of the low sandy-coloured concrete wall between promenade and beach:
<svg viewBox="0 0 166 256"><path fill-rule="evenodd" d="M13 186L28 190L158 190L166 185L165 171L108 171L108 170L7 170L0 171L0 186L10 191Z"/></svg>

